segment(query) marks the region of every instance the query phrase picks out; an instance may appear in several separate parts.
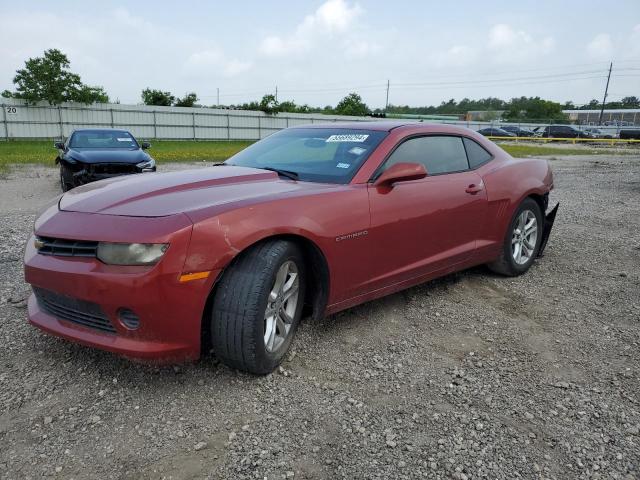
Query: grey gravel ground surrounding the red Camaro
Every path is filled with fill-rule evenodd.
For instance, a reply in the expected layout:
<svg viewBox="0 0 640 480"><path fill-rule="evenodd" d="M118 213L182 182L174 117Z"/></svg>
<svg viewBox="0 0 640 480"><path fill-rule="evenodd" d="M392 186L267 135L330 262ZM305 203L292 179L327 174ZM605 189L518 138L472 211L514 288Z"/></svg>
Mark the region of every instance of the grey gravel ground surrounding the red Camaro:
<svg viewBox="0 0 640 480"><path fill-rule="evenodd" d="M23 244L57 173L15 169L0 180L0 477L640 478L640 157L552 164L561 208L529 273L476 268L303 324L261 378L30 327Z"/></svg>

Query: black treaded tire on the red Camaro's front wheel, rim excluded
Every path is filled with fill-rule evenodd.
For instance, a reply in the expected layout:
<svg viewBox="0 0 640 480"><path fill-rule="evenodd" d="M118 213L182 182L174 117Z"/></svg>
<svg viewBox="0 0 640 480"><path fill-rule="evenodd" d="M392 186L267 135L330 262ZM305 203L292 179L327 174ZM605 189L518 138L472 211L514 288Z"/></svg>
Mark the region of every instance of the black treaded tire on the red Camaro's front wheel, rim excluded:
<svg viewBox="0 0 640 480"><path fill-rule="evenodd" d="M298 274L295 314L280 346L268 351L264 337L269 294L280 268L291 265L288 262L295 264ZM214 354L231 368L258 375L272 372L282 362L300 323L305 278L304 258L291 242L265 241L242 253L214 293L210 330Z"/></svg>

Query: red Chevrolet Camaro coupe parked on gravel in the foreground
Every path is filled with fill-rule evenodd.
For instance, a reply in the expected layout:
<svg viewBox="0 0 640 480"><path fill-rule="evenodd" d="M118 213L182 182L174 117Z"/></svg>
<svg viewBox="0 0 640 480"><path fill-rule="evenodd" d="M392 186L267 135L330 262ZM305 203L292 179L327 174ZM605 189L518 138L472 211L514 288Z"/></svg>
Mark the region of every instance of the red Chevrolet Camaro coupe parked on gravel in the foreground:
<svg viewBox="0 0 640 480"><path fill-rule="evenodd" d="M553 178L465 128L289 128L206 169L73 189L25 253L29 321L129 358L257 374L322 317L473 265L519 275Z"/></svg>

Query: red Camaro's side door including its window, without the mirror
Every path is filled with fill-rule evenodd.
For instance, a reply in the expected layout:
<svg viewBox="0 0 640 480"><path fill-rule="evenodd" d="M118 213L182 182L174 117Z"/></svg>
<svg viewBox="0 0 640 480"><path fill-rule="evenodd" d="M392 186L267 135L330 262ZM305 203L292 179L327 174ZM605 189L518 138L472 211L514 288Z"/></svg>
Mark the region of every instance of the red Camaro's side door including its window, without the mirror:
<svg viewBox="0 0 640 480"><path fill-rule="evenodd" d="M459 136L412 137L402 141L379 169L377 174L395 163L421 163L427 177L393 187L369 186L368 241L374 251L369 289L446 269L474 254L487 195L466 152Z"/></svg>

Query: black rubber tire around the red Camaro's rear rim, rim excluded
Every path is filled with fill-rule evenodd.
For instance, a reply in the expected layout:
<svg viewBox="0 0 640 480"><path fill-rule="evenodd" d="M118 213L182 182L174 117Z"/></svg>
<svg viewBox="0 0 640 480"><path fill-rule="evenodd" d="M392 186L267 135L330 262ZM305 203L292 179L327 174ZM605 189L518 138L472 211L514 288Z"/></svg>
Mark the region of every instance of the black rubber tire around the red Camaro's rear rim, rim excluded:
<svg viewBox="0 0 640 480"><path fill-rule="evenodd" d="M520 215L528 210L535 215L537 221L537 236L535 241L535 247L533 248L533 254L531 257L524 263L516 262L513 253L512 253L512 239L514 236L514 231L517 227L518 220ZM525 198L520 206L516 209L511 222L509 222L509 228L507 229L507 233L505 234L504 243L502 245L502 251L500 253L500 257L495 262L492 262L488 265L488 267L501 275L506 275L509 277L515 277L518 275L522 275L524 272L529 270L536 257L538 256L538 252L540 251L540 243L542 241L542 231L544 228L544 218L542 215L542 211L540 210L540 205L532 199Z"/></svg>

